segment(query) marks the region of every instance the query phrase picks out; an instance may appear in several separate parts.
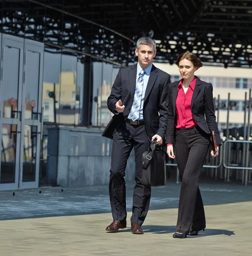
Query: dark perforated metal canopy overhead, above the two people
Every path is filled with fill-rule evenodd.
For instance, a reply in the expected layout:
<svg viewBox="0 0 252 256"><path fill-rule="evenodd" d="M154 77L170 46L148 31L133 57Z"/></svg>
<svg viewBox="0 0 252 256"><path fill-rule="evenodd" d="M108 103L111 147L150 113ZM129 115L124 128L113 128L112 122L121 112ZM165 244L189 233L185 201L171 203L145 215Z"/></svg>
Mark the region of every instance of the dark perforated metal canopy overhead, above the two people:
<svg viewBox="0 0 252 256"><path fill-rule="evenodd" d="M156 61L192 51L209 65L252 67L252 0L5 0L3 32L120 64L143 35ZM100 26L101 25L101 26Z"/></svg>

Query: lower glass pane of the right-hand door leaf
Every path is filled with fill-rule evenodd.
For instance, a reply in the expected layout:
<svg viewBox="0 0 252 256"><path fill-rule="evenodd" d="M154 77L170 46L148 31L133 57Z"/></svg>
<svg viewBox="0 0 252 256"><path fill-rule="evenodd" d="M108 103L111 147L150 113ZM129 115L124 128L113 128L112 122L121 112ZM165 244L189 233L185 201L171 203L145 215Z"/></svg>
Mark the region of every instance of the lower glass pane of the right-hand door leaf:
<svg viewBox="0 0 252 256"><path fill-rule="evenodd" d="M37 126L24 126L23 182L35 181Z"/></svg>

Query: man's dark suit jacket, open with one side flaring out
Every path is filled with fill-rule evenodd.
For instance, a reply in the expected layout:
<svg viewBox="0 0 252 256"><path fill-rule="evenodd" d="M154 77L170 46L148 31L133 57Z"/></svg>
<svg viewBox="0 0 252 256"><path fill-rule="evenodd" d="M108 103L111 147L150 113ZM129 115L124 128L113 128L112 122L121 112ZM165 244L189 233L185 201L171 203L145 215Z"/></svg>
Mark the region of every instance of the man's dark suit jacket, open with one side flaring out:
<svg viewBox="0 0 252 256"><path fill-rule="evenodd" d="M120 68L118 71L107 104L109 110L115 113L115 104L120 99L122 105L125 105L125 109L123 113L113 116L102 136L112 139L115 131L128 118L135 95L136 77L137 64ZM166 98L169 83L170 75L153 65L143 103L143 120L150 140L155 134L158 134L164 140L167 117Z"/></svg>

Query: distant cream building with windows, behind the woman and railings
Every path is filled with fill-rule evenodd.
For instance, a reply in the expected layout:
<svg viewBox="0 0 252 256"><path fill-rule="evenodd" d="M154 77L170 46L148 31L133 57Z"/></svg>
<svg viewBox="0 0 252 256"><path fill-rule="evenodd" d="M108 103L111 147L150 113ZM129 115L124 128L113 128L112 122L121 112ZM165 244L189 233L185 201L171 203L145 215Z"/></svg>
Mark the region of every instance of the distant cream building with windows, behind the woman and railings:
<svg viewBox="0 0 252 256"><path fill-rule="evenodd" d="M177 65L163 63L154 64L156 67L169 73L171 75L172 82L181 79ZM212 83L215 102L218 99L218 95L220 95L220 105L223 106L219 111L219 129L221 132L226 128L228 93L230 93L230 101L232 101L232 106L229 106L229 128L239 128L243 126L245 93L247 93L248 101L249 88L252 88L251 69L203 66L195 72L195 75L203 81ZM248 108L246 108L246 110L248 110ZM252 115L250 116L250 123L251 122Z"/></svg>

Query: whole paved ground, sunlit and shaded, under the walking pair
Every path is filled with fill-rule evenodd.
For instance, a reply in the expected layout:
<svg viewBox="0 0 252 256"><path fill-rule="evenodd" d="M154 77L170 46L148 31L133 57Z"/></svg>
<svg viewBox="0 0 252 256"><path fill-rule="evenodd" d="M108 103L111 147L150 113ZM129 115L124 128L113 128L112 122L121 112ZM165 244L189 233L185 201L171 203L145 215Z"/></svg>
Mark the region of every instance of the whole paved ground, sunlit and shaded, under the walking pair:
<svg viewBox="0 0 252 256"><path fill-rule="evenodd" d="M152 188L143 235L130 232L134 183L127 184L127 228L109 233L108 186L0 192L0 256L250 256L252 186L200 184L206 230L173 239L180 184Z"/></svg>

